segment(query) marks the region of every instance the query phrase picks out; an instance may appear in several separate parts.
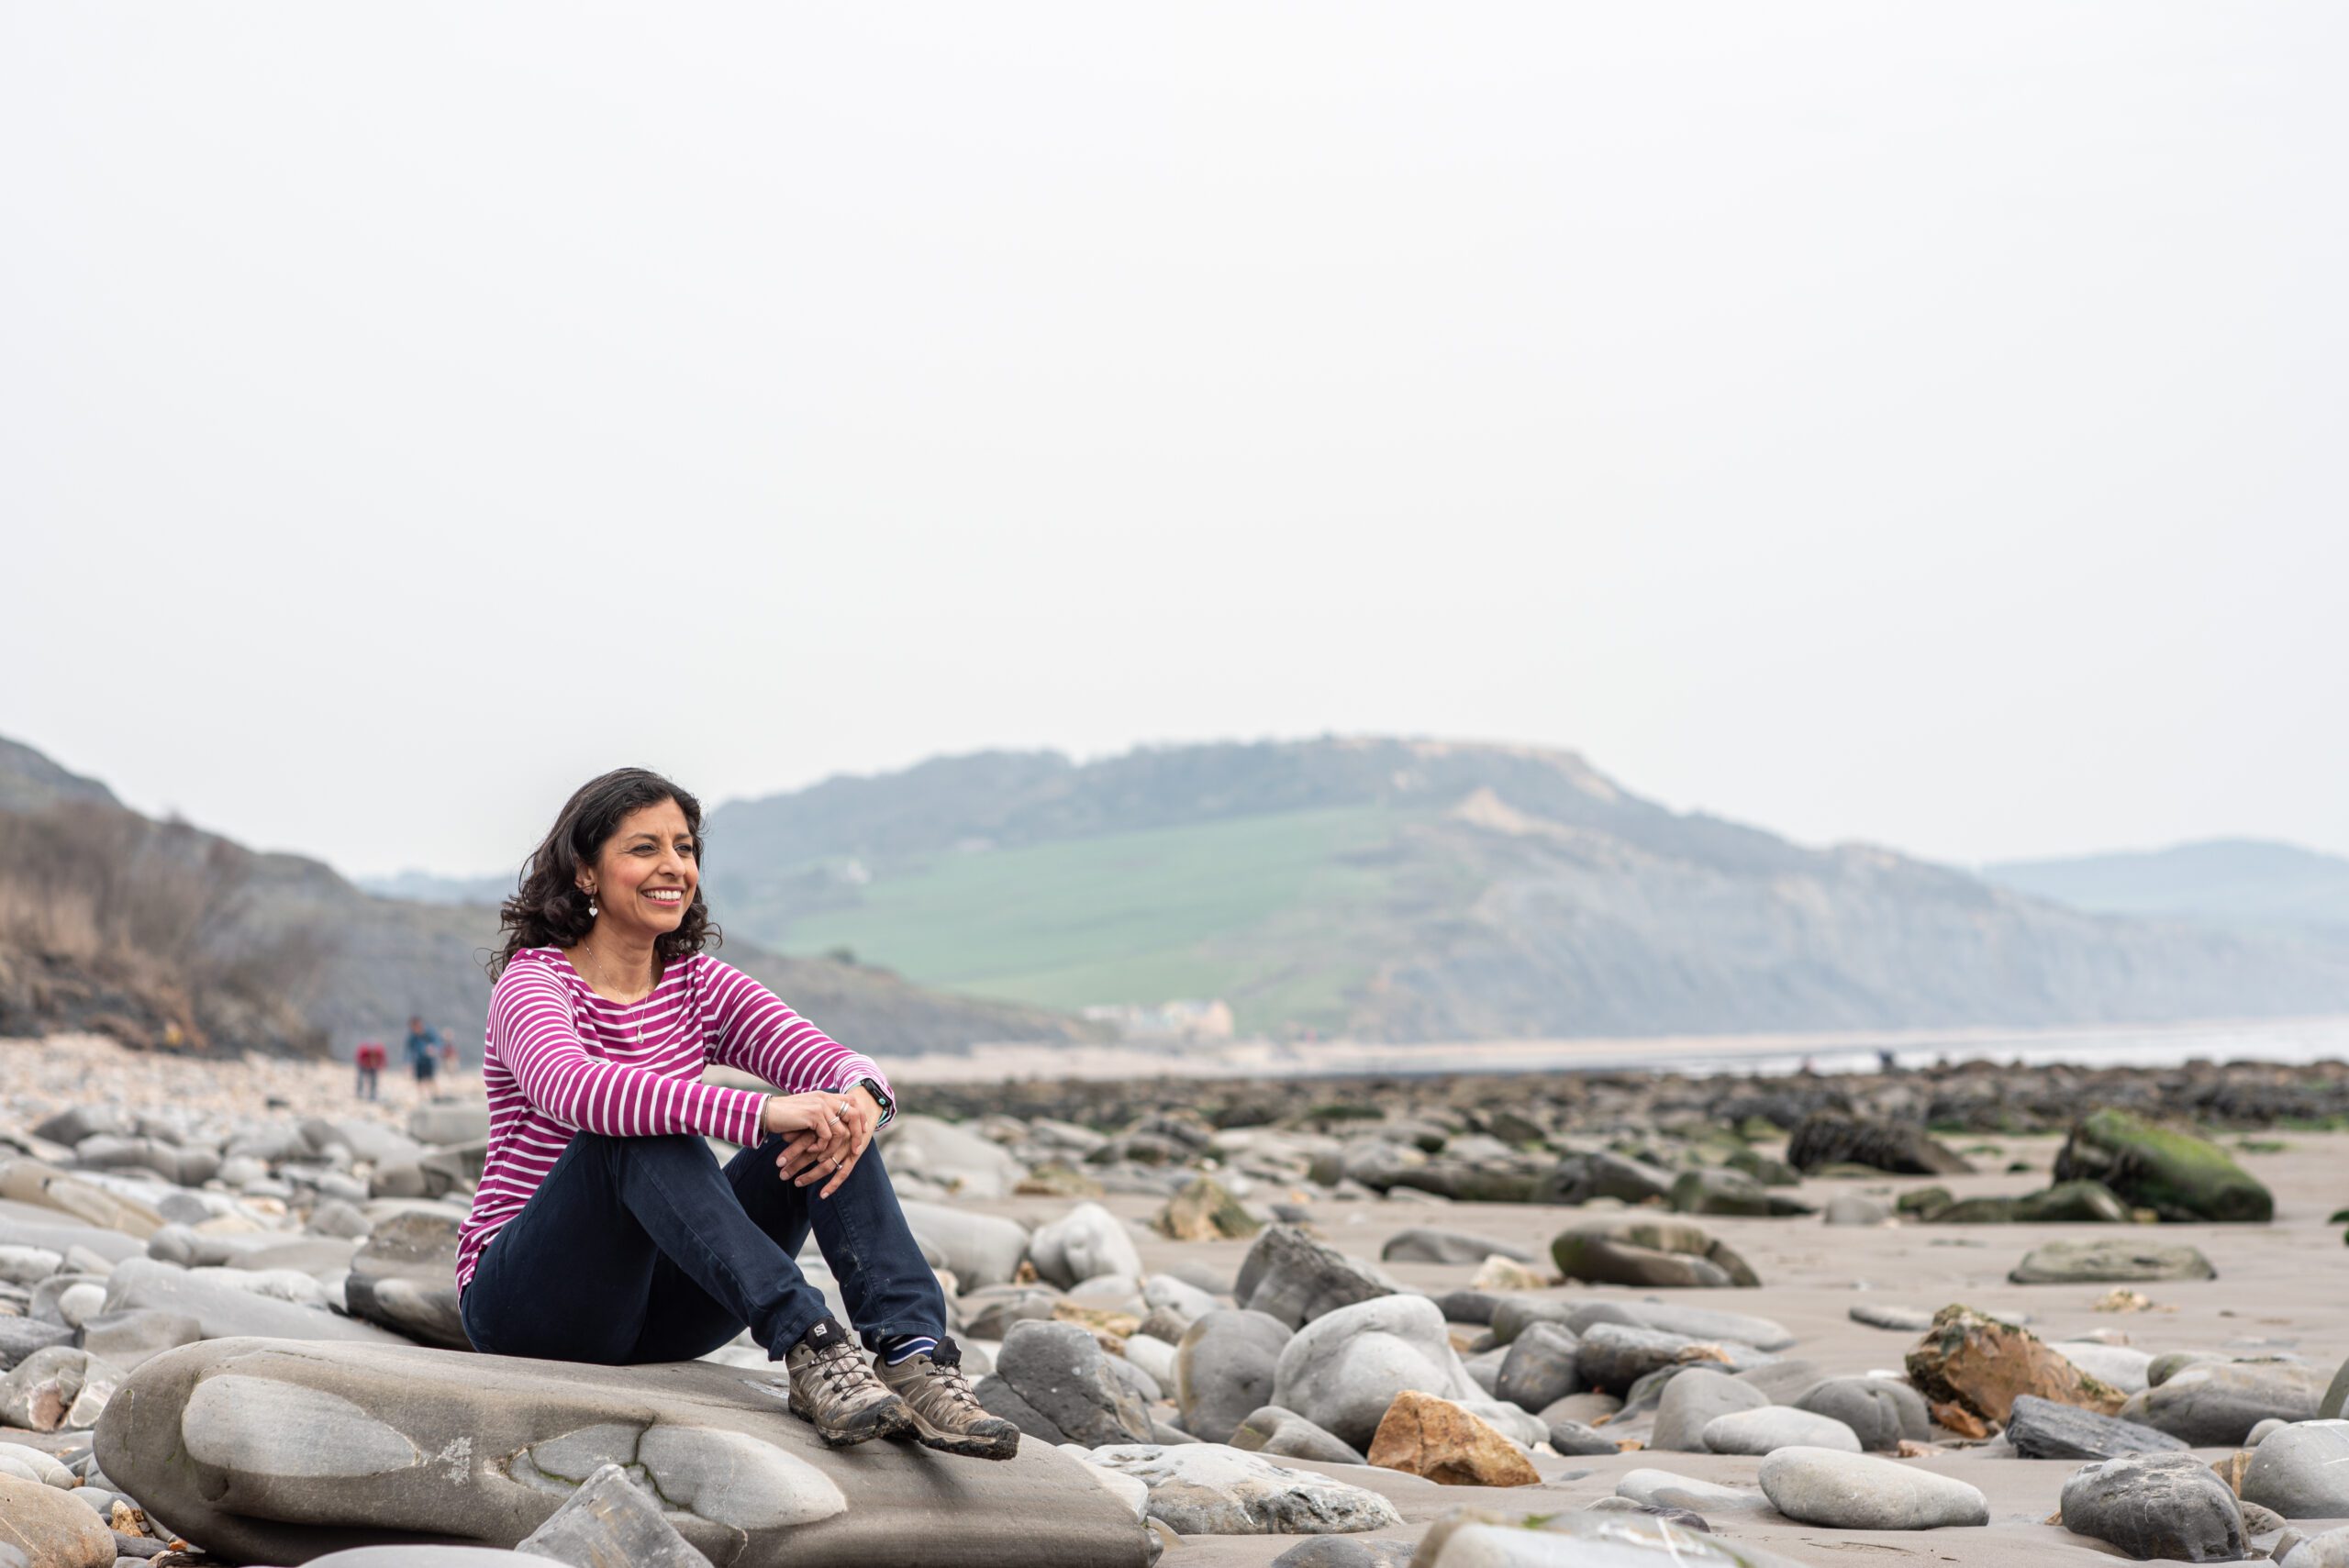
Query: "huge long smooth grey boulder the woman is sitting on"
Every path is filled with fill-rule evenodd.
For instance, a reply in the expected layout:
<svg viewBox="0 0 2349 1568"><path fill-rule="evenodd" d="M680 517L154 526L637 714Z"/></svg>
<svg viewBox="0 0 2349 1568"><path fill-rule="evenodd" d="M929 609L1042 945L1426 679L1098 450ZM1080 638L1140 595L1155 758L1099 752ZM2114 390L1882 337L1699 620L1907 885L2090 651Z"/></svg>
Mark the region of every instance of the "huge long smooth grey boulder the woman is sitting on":
<svg viewBox="0 0 2349 1568"><path fill-rule="evenodd" d="M1048 1446L1005 1462L879 1441L832 1453L768 1376L416 1345L209 1340L122 1385L101 1469L230 1561L357 1545L512 1547L604 1465L719 1568L1156 1556L1130 1507Z"/></svg>

